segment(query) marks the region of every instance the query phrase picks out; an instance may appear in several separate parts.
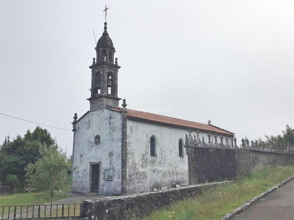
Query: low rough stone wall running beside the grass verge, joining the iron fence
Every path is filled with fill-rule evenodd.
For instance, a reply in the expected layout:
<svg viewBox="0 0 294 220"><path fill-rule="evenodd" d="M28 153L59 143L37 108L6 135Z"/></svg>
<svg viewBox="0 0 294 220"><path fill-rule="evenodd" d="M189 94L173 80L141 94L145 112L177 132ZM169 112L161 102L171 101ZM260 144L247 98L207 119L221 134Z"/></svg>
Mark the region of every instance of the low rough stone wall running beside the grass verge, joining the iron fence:
<svg viewBox="0 0 294 220"><path fill-rule="evenodd" d="M189 197L196 197L201 193L201 190L226 182L228 181L85 200L83 201L81 216L89 219L144 217L160 207L171 205Z"/></svg>

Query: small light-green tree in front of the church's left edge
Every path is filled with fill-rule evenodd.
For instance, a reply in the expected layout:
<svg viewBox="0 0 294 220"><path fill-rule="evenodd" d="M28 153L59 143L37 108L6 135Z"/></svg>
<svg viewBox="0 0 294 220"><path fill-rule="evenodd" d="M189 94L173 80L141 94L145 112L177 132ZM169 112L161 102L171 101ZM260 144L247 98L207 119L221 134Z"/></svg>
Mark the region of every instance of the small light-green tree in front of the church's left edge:
<svg viewBox="0 0 294 220"><path fill-rule="evenodd" d="M26 167L26 182L36 188L37 196L53 197L57 192L68 192L71 189L73 167L71 160L57 144L40 147L41 157L35 164Z"/></svg>

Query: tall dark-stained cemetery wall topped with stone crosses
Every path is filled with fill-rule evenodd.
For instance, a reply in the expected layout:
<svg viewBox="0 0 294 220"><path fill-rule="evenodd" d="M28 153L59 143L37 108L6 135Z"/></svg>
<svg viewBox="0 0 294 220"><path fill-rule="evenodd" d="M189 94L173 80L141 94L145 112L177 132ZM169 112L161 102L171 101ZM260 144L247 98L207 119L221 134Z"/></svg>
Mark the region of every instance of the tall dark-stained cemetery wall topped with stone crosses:
<svg viewBox="0 0 294 220"><path fill-rule="evenodd" d="M293 153L215 147L186 147L186 153L190 184L229 180L276 164L294 164Z"/></svg>

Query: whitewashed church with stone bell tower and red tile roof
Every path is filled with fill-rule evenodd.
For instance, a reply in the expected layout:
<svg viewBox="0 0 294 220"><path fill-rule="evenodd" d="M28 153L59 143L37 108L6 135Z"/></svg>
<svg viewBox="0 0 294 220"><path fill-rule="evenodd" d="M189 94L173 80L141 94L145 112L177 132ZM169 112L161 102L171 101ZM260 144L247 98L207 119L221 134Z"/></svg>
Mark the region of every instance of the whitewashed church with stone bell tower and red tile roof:
<svg viewBox="0 0 294 220"><path fill-rule="evenodd" d="M90 110L73 121L73 192L126 194L188 184L185 145L195 140L233 147L234 133L197 123L119 106L115 48L104 23L91 69ZM197 138L196 138L197 135ZM225 146L223 144L223 146Z"/></svg>

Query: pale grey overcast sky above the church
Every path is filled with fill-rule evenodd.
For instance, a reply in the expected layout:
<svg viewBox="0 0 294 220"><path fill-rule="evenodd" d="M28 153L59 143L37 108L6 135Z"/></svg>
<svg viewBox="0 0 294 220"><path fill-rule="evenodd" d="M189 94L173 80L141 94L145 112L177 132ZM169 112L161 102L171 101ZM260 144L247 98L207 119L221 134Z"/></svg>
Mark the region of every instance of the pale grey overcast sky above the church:
<svg viewBox="0 0 294 220"><path fill-rule="evenodd" d="M293 1L0 1L1 113L72 129L105 3L128 108L210 119L238 144L293 127ZM1 143L36 127L0 119ZM72 153L72 131L42 127Z"/></svg>

